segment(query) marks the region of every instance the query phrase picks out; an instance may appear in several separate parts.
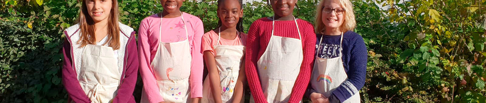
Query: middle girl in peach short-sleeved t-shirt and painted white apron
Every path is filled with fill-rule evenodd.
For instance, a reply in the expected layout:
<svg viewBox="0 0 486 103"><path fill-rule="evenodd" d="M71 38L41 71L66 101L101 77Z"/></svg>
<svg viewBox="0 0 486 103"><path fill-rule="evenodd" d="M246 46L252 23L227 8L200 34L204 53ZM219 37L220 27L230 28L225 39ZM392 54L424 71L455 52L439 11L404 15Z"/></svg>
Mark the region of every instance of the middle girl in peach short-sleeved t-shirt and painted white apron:
<svg viewBox="0 0 486 103"><path fill-rule="evenodd" d="M218 0L218 28L203 35L208 68L201 103L243 103L244 50L242 0Z"/></svg>

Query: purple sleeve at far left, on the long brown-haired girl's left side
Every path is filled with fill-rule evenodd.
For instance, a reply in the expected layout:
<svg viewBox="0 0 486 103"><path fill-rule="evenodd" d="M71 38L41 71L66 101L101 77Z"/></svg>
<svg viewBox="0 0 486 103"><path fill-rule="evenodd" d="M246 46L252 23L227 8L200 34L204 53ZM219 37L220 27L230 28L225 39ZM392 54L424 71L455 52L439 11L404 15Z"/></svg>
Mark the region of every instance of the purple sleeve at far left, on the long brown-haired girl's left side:
<svg viewBox="0 0 486 103"><path fill-rule="evenodd" d="M67 32L64 32L66 35ZM85 91L79 85L76 70L73 68L73 58L72 58L72 48L71 42L69 41L69 36L66 36L63 44L63 65L62 65L62 84L66 91L68 91L69 102L75 103L90 103L89 98L86 96Z"/></svg>

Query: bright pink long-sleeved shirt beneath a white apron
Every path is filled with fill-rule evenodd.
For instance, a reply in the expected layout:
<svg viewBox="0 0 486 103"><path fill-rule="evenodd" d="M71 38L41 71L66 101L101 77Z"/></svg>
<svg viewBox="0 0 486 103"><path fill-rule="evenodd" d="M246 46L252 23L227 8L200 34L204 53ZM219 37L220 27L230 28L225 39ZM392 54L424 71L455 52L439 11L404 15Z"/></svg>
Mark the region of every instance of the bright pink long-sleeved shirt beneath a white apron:
<svg viewBox="0 0 486 103"><path fill-rule="evenodd" d="M139 27L139 66L140 75L143 81L144 93L150 103L163 102L154 76L154 70L150 65L155 57L159 42L178 42L186 40L187 27L189 44L191 47L191 98L202 98L203 92L203 53L201 50L201 40L204 34L203 22L199 17L183 13L184 21L181 17L162 18L155 15L144 18ZM161 39L159 39L159 27L161 28Z"/></svg>

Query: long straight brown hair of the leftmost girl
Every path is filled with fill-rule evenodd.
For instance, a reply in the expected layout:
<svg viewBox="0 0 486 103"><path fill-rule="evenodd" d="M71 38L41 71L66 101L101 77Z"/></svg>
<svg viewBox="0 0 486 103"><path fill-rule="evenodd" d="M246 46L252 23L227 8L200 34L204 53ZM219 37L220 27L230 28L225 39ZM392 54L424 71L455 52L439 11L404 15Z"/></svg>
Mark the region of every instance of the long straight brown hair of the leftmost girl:
<svg viewBox="0 0 486 103"><path fill-rule="evenodd" d="M117 0L111 0L112 5L111 5L111 11L110 15L108 16L108 34L106 41L104 42L103 45L108 44L109 47L113 48L113 50L118 50L120 48L120 27L118 26L118 16L119 16L119 11L118 11L118 1ZM87 6L85 0L81 1L81 12L79 12L79 28L81 29L81 36L79 40L76 42L78 44L81 44L81 47L84 47L88 44L95 44L96 39L95 39L95 27L94 27L94 21L93 18L89 16L89 13L87 11Z"/></svg>

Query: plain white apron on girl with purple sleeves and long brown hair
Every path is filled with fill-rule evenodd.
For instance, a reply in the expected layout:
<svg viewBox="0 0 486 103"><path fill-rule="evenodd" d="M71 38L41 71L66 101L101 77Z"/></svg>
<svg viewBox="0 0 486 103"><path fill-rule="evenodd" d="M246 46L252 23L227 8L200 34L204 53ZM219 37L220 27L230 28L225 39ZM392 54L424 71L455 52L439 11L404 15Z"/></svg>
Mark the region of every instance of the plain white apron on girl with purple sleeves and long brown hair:
<svg viewBox="0 0 486 103"><path fill-rule="evenodd" d="M81 56L79 84L91 103L109 103L117 95L121 79L113 48L88 44Z"/></svg>

